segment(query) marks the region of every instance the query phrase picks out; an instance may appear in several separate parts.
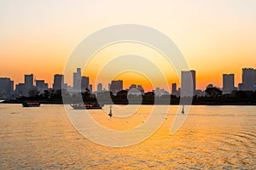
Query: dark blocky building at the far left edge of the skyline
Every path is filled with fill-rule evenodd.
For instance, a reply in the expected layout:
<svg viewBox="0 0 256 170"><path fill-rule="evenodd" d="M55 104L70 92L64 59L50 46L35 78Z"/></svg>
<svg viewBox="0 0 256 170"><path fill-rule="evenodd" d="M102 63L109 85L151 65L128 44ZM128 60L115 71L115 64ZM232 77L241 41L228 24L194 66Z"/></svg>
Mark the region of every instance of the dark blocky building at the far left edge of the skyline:
<svg viewBox="0 0 256 170"><path fill-rule="evenodd" d="M9 98L14 91L14 82L7 77L0 77L0 97Z"/></svg>

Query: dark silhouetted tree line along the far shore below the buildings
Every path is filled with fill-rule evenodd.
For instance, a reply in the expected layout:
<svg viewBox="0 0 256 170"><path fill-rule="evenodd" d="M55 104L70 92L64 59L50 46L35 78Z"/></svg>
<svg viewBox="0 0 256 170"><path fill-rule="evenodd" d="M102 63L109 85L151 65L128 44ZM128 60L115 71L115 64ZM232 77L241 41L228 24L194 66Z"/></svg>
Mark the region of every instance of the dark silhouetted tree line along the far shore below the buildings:
<svg viewBox="0 0 256 170"><path fill-rule="evenodd" d="M238 91L234 90L231 94L223 94L219 88L207 88L205 96L193 96L192 105L256 105L256 91ZM91 94L89 89L81 94L69 94L67 90L44 90L39 93L37 90L29 91L29 96L21 96L6 102L20 103L23 101L39 101L45 104L63 104L62 95L65 95L67 103L84 102L101 102L102 104L143 104L154 105L155 99L162 101L170 101L170 105L178 105L180 97L169 94L156 96L154 92L148 92L142 95L129 94L126 90L121 90L116 95L112 92L105 91L97 94ZM113 103L112 103L113 102ZM129 103L130 102L130 103Z"/></svg>

